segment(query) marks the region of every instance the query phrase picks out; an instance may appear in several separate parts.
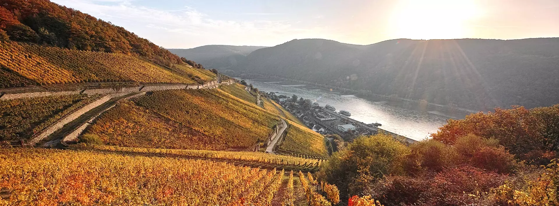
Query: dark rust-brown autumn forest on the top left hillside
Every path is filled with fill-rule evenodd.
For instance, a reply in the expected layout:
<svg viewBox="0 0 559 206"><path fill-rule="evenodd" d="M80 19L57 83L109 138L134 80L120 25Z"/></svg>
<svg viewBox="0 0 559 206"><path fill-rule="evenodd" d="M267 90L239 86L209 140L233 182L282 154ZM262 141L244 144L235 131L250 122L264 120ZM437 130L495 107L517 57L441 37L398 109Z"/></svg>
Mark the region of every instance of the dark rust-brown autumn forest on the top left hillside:
<svg viewBox="0 0 559 206"><path fill-rule="evenodd" d="M132 54L167 66L181 63L177 55L122 27L48 0L4 0L0 18L0 36L13 41Z"/></svg>

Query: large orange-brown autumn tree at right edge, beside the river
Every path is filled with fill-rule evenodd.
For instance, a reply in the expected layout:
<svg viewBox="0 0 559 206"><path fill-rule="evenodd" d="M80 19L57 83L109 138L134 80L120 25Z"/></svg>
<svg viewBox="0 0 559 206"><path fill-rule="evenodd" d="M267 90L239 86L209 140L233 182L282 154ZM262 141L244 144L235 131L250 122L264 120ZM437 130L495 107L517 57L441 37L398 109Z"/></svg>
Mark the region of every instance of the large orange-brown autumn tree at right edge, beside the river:
<svg viewBox="0 0 559 206"><path fill-rule="evenodd" d="M433 139L454 144L456 139L467 134L497 139L519 158L535 160L535 153L542 156L557 152L559 146L559 105L525 109L496 108L495 113L476 113L462 120L449 120ZM549 161L549 160L546 160Z"/></svg>

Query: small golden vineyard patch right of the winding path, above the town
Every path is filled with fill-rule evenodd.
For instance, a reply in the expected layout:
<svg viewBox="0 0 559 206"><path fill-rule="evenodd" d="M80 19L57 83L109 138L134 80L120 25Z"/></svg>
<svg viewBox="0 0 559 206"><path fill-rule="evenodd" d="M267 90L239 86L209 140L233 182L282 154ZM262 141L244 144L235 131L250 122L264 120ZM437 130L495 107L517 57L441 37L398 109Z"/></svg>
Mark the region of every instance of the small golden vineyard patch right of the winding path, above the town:
<svg viewBox="0 0 559 206"><path fill-rule="evenodd" d="M293 121L288 121L288 123L290 127L287 129L287 135L278 147L278 151L315 158L328 157L322 135L300 124L293 123Z"/></svg>

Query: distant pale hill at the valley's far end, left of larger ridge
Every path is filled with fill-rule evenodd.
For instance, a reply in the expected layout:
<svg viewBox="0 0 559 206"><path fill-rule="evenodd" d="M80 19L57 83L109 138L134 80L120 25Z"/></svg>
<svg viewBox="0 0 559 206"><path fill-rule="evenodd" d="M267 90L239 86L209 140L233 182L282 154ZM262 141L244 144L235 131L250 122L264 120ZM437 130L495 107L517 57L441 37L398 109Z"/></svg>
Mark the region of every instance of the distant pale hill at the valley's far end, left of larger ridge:
<svg viewBox="0 0 559 206"><path fill-rule="evenodd" d="M244 62L245 56L267 46L206 45L192 49L169 49L179 57L194 60L207 68L225 70Z"/></svg>

